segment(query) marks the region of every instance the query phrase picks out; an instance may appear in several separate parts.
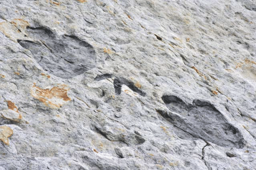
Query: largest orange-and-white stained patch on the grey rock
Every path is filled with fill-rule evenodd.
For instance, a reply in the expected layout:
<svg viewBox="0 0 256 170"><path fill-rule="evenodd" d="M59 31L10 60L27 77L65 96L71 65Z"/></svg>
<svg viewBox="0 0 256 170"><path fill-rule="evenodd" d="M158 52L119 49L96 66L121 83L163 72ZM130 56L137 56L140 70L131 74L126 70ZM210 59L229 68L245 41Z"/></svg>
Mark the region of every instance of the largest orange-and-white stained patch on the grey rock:
<svg viewBox="0 0 256 170"><path fill-rule="evenodd" d="M51 89L42 89L34 85L31 88L31 95L48 107L59 108L71 99L68 97L69 88L66 85L57 85Z"/></svg>

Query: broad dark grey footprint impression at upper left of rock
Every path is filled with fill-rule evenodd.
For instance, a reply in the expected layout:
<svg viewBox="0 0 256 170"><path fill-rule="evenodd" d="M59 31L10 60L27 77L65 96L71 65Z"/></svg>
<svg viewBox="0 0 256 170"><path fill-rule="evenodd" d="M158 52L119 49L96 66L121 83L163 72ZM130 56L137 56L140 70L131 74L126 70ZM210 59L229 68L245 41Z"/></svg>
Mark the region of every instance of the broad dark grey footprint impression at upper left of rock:
<svg viewBox="0 0 256 170"><path fill-rule="evenodd" d="M30 27L27 32L35 41L18 40L18 43L33 54L44 70L60 78L72 78L96 65L94 48L76 36L57 37L43 27Z"/></svg>

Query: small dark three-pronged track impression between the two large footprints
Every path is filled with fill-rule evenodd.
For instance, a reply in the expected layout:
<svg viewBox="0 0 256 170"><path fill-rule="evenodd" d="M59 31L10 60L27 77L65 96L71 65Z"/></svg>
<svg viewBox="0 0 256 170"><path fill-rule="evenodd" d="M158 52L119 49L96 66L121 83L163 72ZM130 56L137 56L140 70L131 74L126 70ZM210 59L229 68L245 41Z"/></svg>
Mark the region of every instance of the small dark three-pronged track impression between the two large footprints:
<svg viewBox="0 0 256 170"><path fill-rule="evenodd" d="M113 74L101 74L101 75L97 75L96 78L94 80L96 81L100 81L100 80L103 80L103 79L108 79L108 78L112 78L114 77ZM129 87L132 91L134 92L137 92L139 95L141 96L146 96L146 93L142 90L140 90L138 87L136 87L133 82L125 79L125 78L115 78L114 79L114 88L115 88L115 92L116 92L116 95L120 95L121 94L121 88L122 88L122 85L126 85L127 87Z"/></svg>

